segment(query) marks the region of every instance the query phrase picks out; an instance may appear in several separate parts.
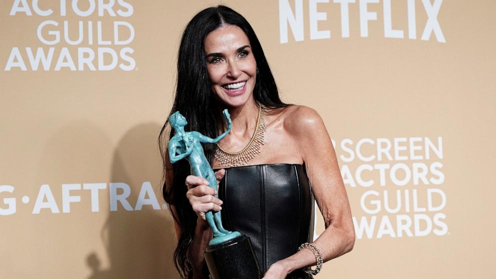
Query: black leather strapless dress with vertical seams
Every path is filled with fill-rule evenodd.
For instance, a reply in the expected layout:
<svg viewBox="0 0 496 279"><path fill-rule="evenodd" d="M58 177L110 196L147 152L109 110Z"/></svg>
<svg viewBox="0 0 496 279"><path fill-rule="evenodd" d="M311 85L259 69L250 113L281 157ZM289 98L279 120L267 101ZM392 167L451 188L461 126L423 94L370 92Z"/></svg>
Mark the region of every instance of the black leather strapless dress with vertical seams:
<svg viewBox="0 0 496 279"><path fill-rule="evenodd" d="M215 169L216 171L217 169ZM249 236L262 274L312 242L314 199L304 165L226 167L218 194L222 224ZM313 278L302 269L286 278Z"/></svg>

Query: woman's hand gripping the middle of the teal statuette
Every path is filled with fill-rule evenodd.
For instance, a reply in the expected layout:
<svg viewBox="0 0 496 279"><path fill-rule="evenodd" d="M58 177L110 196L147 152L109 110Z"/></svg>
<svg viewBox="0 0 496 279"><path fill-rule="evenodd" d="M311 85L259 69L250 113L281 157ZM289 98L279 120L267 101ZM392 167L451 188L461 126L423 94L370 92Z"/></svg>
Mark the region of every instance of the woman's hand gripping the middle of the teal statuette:
<svg viewBox="0 0 496 279"><path fill-rule="evenodd" d="M215 172L215 178L218 182L224 177L225 169L220 169ZM215 197L217 191L213 187L208 186L208 181L200 176L188 175L186 177L188 191L186 197L193 208L193 211L198 215L198 218L206 220L205 213L208 211L219 211L222 200Z"/></svg>

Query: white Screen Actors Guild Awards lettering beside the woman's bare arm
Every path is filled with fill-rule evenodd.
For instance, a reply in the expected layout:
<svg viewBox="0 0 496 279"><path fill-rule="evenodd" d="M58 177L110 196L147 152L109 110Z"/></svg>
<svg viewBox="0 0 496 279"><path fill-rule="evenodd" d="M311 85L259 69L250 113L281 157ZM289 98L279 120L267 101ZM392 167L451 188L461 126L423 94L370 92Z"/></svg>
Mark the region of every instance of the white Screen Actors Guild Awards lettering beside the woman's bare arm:
<svg viewBox="0 0 496 279"><path fill-rule="evenodd" d="M333 144L348 192L361 192L362 212L352 212L358 239L448 232L441 136L345 138Z"/></svg>

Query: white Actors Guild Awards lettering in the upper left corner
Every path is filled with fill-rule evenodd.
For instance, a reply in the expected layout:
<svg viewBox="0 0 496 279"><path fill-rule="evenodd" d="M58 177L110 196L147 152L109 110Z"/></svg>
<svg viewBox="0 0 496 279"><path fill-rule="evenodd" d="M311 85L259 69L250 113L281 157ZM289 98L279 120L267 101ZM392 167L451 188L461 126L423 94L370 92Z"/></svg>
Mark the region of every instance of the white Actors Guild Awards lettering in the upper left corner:
<svg viewBox="0 0 496 279"><path fill-rule="evenodd" d="M38 0L13 0L10 16L38 16L47 18L57 14L52 7L38 5ZM127 21L122 20L75 20L76 16L81 18L95 15L98 17L130 17L133 13L131 4L124 0L102 1L86 0L89 3L85 9L80 9L78 0L69 1L45 1L43 5L56 4L59 13L65 17L70 15L71 20L62 22L44 19L33 31L43 46L27 45L24 47L13 46L5 63L4 70L12 69L26 70L61 70L68 68L71 71L83 70L113 70L120 68L125 71L133 70L136 62L132 56L134 49L128 45L134 39L134 27ZM112 25L112 32L103 32L104 24ZM77 31L70 32L69 29ZM122 38L123 32L128 33L127 38ZM38 43L38 45L39 45ZM64 46L65 45L65 46ZM94 46L96 45L96 46ZM71 47L76 46L76 47ZM119 59L120 58L120 59ZM40 65L41 63L41 65Z"/></svg>

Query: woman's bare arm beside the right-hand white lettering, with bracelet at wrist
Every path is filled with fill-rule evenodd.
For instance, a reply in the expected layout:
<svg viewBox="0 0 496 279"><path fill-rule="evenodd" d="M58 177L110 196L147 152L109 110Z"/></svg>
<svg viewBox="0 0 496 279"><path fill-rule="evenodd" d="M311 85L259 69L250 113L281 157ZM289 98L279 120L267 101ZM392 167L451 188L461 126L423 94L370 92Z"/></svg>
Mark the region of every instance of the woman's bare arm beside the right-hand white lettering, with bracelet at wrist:
<svg viewBox="0 0 496 279"><path fill-rule="evenodd" d="M323 261L350 251L355 234L348 197L341 178L337 158L325 125L318 113L298 106L287 116L287 129L298 142L308 178L325 222L325 230L313 242ZM314 265L315 257L308 249L281 260L288 272Z"/></svg>

